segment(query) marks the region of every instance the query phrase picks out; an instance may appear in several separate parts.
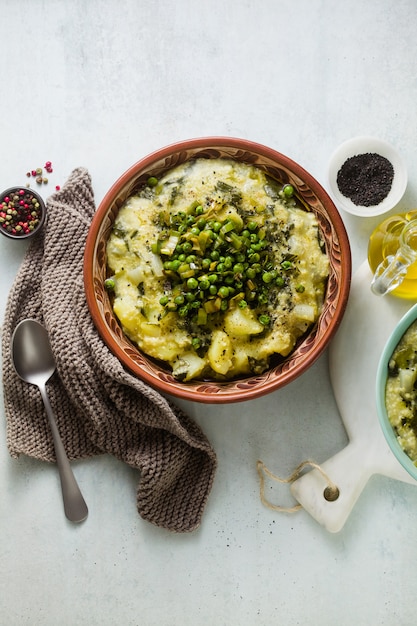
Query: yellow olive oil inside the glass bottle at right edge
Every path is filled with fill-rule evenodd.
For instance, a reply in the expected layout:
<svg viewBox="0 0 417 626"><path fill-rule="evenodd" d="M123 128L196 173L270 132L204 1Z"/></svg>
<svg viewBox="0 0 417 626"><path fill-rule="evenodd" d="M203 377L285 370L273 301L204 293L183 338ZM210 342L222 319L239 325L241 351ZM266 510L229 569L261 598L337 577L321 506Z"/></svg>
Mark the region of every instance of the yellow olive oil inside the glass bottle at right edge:
<svg viewBox="0 0 417 626"><path fill-rule="evenodd" d="M400 235L411 220L417 220L417 209L388 217L375 228L368 245L368 263L372 272L388 256L395 255L400 245ZM417 251L417 225L416 231L409 236L407 245ZM399 298L417 300L417 261L409 266L403 282L391 293Z"/></svg>

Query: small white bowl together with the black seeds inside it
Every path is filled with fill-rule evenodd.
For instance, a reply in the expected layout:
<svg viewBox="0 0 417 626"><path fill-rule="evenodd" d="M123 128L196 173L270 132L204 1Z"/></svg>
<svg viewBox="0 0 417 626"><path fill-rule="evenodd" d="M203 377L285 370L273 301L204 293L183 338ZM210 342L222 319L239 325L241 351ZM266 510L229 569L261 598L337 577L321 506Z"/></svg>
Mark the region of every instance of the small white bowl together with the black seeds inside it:
<svg viewBox="0 0 417 626"><path fill-rule="evenodd" d="M375 137L354 137L333 153L328 170L338 208L360 217L393 209L407 187L407 168L398 151Z"/></svg>

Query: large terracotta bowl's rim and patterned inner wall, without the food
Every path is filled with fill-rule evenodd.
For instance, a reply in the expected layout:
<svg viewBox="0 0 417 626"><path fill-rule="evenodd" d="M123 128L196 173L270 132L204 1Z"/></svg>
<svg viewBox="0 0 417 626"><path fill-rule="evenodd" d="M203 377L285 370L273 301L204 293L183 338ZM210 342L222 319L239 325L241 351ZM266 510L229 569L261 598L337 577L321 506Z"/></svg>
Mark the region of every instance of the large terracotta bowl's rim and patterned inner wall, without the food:
<svg viewBox="0 0 417 626"><path fill-rule="evenodd" d="M291 352L271 361L262 373L231 380L173 376L164 362L147 356L123 331L108 289L107 247L115 221L126 200L149 181L174 167L198 159L228 159L255 166L268 179L291 186L297 201L317 220L320 240L329 261L321 312ZM153 184L153 183L152 183ZM190 139L166 146L144 157L112 185L101 201L89 229L84 256L87 304L102 339L121 363L157 390L203 403L239 402L260 397L290 383L323 353L336 332L348 300L351 277L350 245L343 221L321 185L287 156L260 144L228 137Z"/></svg>

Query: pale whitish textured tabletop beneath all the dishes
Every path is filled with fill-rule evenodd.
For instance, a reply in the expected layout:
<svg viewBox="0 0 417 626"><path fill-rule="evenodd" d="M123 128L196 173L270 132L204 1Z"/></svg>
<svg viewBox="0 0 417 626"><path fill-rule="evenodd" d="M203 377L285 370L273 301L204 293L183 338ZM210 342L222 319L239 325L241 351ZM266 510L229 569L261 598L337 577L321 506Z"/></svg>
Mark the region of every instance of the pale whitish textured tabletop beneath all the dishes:
<svg viewBox="0 0 417 626"><path fill-rule="evenodd" d="M409 168L417 205L415 0L0 0L0 187L54 163L44 195L85 165L97 201L133 162L179 139L265 143L322 184L334 149L372 135ZM354 269L378 218L342 214ZM22 246L0 241L0 291ZM372 319L358 320L372 331ZM355 397L355 388L350 390ZM9 458L0 420L0 623L376 626L414 623L417 489L373 477L341 532L264 508L256 460L285 476L347 445L325 354L269 397L185 405L219 457L201 528L138 518L137 475L78 463L90 508L62 513L56 468ZM287 488L268 483L275 502Z"/></svg>

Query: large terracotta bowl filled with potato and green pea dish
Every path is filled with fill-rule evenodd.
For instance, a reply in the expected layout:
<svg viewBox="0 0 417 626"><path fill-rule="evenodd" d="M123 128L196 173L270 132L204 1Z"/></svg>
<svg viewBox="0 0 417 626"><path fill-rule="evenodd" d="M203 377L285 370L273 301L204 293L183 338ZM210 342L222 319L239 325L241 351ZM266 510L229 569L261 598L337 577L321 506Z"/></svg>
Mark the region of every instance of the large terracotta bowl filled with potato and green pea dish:
<svg viewBox="0 0 417 626"><path fill-rule="evenodd" d="M204 175L200 175L201 171ZM212 177L219 176L219 172L221 178L215 188L210 188ZM246 178L245 172L249 172ZM178 203L180 206L183 200L185 209L172 208ZM132 211L123 221L127 205ZM148 220L147 228L155 230L158 223L157 228L164 230L161 239L155 232L149 235L141 222L147 219L143 216L149 207L156 213ZM270 213L266 216L265 211ZM288 225L285 216L290 213L294 218ZM136 215L136 225L129 221L132 215ZM267 256L268 250L275 250L284 231L286 255L279 258L276 267L275 257ZM314 248L311 255L299 240L298 250L291 247L297 245L294 242L298 231L315 232L315 241L314 237L309 240ZM185 249L188 241L181 243L187 237L193 243L195 262L190 261L192 255ZM225 242L228 249L222 247ZM313 319L309 315L314 307L306 304L306 299L321 288L313 280L319 273L320 263L315 264L314 256L318 247L326 255L328 265L317 318ZM130 256L117 265L123 254ZM132 258L138 259L138 267L133 269ZM149 273L144 278L143 259L150 271L161 277L159 284L168 289L167 295L164 292L161 297L155 288L154 303L144 295L151 279ZM250 265L253 259L258 263ZM297 265L299 259L303 259L302 265ZM207 265L201 270L204 263ZM259 273L255 275L256 272ZM346 230L319 183L279 152L227 137L179 142L157 150L127 170L97 209L84 261L86 298L92 318L122 364L161 392L206 403L262 396L288 384L310 367L343 317L350 276ZM211 284L211 279L215 284ZM120 290L125 288L124 295L112 291L115 281ZM113 284L109 286L110 283ZM277 289L281 283L282 289ZM134 302L138 292L139 298L148 298L145 304ZM275 300L271 294L276 295ZM275 334L272 333L271 324L282 325L287 314L298 319L303 313L305 319L297 322L300 332L288 341L285 328L275 333L273 326ZM149 349L143 350L132 336L135 329L145 326ZM161 335L162 327L166 335ZM274 346L281 342L282 349L281 353L277 348L276 355L263 358L262 338L268 334L269 340L273 335ZM181 346L186 346L186 354L179 360L188 364L192 361L197 368L193 376L171 363L173 337L178 345L182 341ZM157 351L152 353L154 344ZM229 365L225 367L225 363ZM208 376L207 371L215 376Z"/></svg>

